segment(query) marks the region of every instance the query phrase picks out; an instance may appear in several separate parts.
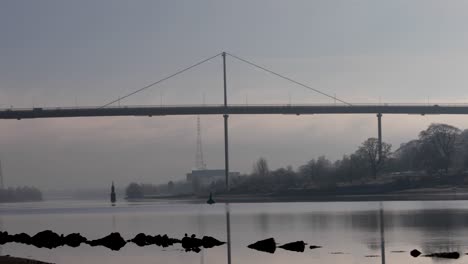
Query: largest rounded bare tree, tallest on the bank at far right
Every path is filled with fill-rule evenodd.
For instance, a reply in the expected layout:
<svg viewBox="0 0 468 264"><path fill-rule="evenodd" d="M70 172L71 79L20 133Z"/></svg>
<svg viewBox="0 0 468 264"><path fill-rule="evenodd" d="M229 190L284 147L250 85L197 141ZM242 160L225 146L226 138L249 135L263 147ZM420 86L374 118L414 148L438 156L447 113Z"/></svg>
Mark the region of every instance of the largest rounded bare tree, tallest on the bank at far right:
<svg viewBox="0 0 468 264"><path fill-rule="evenodd" d="M421 158L426 167L448 172L460 132L460 129L447 124L431 124L419 133L422 144Z"/></svg>

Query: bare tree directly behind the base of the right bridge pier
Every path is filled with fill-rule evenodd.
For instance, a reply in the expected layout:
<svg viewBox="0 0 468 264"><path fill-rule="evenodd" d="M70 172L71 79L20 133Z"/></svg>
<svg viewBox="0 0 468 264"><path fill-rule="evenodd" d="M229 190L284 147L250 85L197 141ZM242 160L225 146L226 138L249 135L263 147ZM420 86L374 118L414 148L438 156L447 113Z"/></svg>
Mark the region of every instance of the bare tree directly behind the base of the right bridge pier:
<svg viewBox="0 0 468 264"><path fill-rule="evenodd" d="M379 140L368 138L356 151L356 155L367 161L371 175L377 178L377 174L383 168L385 160L390 156L391 148L392 145L382 142L382 156L379 157Z"/></svg>

